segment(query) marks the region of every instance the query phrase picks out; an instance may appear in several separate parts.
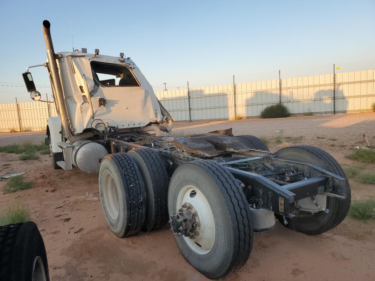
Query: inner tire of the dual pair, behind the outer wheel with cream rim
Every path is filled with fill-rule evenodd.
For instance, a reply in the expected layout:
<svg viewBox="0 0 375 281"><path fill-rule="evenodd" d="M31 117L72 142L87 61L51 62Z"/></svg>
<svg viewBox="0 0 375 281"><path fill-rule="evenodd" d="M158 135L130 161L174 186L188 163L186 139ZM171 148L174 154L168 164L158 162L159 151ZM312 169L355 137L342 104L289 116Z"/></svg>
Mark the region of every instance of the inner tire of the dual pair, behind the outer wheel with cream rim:
<svg viewBox="0 0 375 281"><path fill-rule="evenodd" d="M146 217L142 230L160 229L168 221L169 175L159 153L152 148L129 151L141 172L146 188Z"/></svg>

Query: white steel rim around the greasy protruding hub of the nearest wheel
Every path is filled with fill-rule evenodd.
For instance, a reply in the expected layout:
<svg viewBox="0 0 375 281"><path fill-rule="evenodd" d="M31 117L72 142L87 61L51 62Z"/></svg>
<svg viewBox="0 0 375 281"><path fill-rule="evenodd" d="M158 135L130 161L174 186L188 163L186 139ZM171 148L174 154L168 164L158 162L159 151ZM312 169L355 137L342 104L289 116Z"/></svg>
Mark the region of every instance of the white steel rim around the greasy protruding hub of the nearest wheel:
<svg viewBox="0 0 375 281"><path fill-rule="evenodd" d="M206 255L210 253L215 242L215 223L210 205L207 199L199 191L198 188L192 185L184 186L177 196L176 212L181 208L183 203L189 203L193 206L198 214L200 230L196 239L182 236L186 244L195 253Z"/></svg>

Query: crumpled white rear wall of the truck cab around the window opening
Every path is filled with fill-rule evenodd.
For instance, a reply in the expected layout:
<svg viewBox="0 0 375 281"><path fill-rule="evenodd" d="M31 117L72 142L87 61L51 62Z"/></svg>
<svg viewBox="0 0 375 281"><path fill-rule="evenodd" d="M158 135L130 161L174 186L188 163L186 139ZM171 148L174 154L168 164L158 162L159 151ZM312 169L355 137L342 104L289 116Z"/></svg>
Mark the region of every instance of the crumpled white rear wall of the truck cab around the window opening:
<svg viewBox="0 0 375 281"><path fill-rule="evenodd" d="M60 79L74 133L99 118L110 126L144 127L162 123L151 85L130 59L83 53L61 53Z"/></svg>

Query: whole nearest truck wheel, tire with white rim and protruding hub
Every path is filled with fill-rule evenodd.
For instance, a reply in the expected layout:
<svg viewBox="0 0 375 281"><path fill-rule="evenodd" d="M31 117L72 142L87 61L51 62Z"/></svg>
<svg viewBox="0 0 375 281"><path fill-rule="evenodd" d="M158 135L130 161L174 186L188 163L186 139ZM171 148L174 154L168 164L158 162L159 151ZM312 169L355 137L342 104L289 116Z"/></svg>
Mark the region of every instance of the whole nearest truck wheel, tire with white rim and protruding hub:
<svg viewBox="0 0 375 281"><path fill-rule="evenodd" d="M209 160L178 167L168 192L172 231L182 256L210 279L249 258L253 228L245 194L231 173Z"/></svg>

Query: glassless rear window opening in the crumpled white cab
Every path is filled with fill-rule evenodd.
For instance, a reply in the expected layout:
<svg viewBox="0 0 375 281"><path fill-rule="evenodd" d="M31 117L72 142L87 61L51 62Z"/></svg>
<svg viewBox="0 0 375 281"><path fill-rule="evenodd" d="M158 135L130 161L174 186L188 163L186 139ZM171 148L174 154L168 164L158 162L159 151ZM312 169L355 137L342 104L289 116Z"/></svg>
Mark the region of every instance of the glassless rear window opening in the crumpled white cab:
<svg viewBox="0 0 375 281"><path fill-rule="evenodd" d="M140 86L132 71L126 66L100 63L97 61L92 61L90 64L93 72L93 78L95 82L101 86Z"/></svg>

